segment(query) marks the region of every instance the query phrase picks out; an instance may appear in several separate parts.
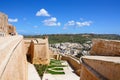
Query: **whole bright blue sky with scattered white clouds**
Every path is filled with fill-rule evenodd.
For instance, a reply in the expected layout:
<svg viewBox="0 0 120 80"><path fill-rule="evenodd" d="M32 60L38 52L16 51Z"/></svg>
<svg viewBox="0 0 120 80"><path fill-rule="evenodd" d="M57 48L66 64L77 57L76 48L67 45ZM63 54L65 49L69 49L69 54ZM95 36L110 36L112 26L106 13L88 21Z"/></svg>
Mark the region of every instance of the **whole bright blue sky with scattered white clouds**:
<svg viewBox="0 0 120 80"><path fill-rule="evenodd" d="M120 34L120 0L0 0L19 34Z"/></svg>

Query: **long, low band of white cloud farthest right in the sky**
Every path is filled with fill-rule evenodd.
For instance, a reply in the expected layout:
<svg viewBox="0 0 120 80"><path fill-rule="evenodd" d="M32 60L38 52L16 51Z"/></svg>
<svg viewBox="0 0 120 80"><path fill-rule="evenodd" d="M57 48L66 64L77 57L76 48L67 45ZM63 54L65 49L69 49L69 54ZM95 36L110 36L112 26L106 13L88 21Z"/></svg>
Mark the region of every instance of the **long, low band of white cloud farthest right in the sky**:
<svg viewBox="0 0 120 80"><path fill-rule="evenodd" d="M92 21L84 21L84 22L79 22L79 21L68 21L65 26L75 26L75 27L84 27L84 26L90 26L92 24Z"/></svg>

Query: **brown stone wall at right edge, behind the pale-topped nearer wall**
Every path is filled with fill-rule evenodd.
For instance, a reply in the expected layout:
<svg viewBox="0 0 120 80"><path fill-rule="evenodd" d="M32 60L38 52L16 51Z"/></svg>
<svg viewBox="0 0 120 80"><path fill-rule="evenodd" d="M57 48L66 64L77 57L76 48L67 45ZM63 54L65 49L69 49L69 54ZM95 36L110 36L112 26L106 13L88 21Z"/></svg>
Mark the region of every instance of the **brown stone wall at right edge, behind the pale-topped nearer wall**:
<svg viewBox="0 0 120 80"><path fill-rule="evenodd" d="M120 56L120 41L93 39L91 55Z"/></svg>

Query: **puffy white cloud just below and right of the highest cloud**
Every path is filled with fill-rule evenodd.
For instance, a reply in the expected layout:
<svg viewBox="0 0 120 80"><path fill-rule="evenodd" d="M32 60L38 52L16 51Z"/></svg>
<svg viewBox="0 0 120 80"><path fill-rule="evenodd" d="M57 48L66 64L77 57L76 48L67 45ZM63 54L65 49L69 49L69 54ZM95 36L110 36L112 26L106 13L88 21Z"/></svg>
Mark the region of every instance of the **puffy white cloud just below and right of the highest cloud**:
<svg viewBox="0 0 120 80"><path fill-rule="evenodd" d="M61 23L57 22L57 19L55 17L51 17L50 19L46 19L43 21L44 25L46 26L60 26Z"/></svg>

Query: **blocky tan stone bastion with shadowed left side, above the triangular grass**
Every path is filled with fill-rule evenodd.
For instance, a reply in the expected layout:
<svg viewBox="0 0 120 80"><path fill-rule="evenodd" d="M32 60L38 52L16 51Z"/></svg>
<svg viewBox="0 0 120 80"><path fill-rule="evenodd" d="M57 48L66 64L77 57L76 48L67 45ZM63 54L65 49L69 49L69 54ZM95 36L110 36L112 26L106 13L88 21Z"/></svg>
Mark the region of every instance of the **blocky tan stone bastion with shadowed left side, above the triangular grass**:
<svg viewBox="0 0 120 80"><path fill-rule="evenodd" d="M33 64L49 64L48 38L32 40L28 53Z"/></svg>

